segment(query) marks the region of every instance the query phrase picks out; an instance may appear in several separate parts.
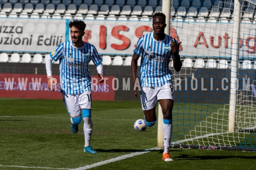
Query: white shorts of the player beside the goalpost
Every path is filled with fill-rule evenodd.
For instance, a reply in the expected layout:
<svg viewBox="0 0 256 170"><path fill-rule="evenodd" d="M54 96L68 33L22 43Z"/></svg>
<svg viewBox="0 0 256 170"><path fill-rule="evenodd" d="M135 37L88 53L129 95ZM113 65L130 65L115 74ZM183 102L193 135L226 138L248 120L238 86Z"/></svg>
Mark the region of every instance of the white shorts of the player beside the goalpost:
<svg viewBox="0 0 256 170"><path fill-rule="evenodd" d="M156 106L158 100L173 100L173 86L166 84L158 87L141 87L142 110L149 110Z"/></svg>

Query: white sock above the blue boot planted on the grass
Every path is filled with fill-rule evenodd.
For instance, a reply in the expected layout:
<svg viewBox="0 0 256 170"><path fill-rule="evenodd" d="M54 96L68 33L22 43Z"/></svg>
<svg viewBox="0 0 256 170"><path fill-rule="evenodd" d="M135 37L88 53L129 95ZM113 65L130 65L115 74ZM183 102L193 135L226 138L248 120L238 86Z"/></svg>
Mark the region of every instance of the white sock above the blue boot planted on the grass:
<svg viewBox="0 0 256 170"><path fill-rule="evenodd" d="M84 147L90 146L92 139L92 117L83 117L84 119Z"/></svg>

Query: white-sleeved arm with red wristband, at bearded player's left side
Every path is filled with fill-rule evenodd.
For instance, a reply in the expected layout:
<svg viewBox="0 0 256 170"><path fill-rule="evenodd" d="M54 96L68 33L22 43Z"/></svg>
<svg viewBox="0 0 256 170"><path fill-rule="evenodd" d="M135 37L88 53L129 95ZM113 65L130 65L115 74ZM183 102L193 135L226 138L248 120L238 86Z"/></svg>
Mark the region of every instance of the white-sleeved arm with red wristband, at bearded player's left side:
<svg viewBox="0 0 256 170"><path fill-rule="evenodd" d="M54 91L53 84L57 83L57 81L56 81L56 78L53 78L52 76L52 61L53 59L50 57L50 55L46 55L45 67L46 67L46 73L47 73L47 79L48 79L48 89L51 91Z"/></svg>

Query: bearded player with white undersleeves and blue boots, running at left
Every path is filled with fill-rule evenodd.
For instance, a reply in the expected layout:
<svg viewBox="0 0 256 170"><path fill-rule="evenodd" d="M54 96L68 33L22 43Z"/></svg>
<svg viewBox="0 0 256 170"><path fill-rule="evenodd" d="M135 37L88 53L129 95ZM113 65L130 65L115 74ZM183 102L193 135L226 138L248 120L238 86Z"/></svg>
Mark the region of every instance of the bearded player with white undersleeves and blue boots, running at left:
<svg viewBox="0 0 256 170"><path fill-rule="evenodd" d="M99 82L104 82L102 59L94 45L83 41L84 21L71 20L71 41L60 43L46 58L46 72L48 89L53 89L53 83L57 83L52 76L52 61L60 60L60 84L64 105L68 110L71 121L71 130L78 132L78 125L84 120L84 152L97 153L90 146L92 138L92 90L91 77L88 71L89 62L96 65ZM82 113L82 115L81 115Z"/></svg>

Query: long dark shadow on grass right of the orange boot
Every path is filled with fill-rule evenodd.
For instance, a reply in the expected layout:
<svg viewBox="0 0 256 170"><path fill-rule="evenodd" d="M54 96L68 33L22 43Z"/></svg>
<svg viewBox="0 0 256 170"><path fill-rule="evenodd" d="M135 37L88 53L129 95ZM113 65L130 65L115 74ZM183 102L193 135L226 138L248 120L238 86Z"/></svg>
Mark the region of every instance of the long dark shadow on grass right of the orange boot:
<svg viewBox="0 0 256 170"><path fill-rule="evenodd" d="M214 160L214 159L228 159L228 158L241 158L241 159L256 159L256 156L190 156L188 154L182 154L181 156L176 156L175 158L180 158L182 160Z"/></svg>

